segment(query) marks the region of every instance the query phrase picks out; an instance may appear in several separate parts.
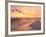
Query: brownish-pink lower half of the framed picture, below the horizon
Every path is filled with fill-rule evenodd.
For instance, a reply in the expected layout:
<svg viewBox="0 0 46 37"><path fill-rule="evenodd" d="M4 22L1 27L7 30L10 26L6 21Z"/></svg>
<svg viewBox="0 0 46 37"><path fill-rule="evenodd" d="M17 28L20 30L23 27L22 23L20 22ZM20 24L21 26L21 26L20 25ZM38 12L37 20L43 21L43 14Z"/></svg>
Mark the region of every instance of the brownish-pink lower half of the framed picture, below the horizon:
<svg viewBox="0 0 46 37"><path fill-rule="evenodd" d="M40 29L40 18L11 18L11 31L29 31Z"/></svg>

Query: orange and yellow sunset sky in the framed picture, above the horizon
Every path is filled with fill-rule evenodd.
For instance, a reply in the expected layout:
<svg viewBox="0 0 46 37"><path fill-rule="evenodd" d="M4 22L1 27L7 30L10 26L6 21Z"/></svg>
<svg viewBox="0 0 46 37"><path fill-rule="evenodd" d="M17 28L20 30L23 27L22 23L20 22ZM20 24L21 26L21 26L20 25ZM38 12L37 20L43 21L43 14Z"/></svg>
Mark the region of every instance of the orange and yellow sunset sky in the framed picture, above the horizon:
<svg viewBox="0 0 46 37"><path fill-rule="evenodd" d="M14 6L12 6L14 7ZM18 12L15 9L17 9ZM31 7L24 7L24 6L16 6L14 8L11 8L11 17L15 18L21 18L21 17L30 17L30 18L39 18L41 17L41 7L40 6L31 6Z"/></svg>

